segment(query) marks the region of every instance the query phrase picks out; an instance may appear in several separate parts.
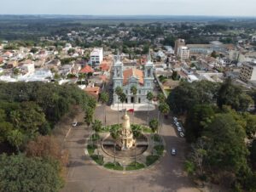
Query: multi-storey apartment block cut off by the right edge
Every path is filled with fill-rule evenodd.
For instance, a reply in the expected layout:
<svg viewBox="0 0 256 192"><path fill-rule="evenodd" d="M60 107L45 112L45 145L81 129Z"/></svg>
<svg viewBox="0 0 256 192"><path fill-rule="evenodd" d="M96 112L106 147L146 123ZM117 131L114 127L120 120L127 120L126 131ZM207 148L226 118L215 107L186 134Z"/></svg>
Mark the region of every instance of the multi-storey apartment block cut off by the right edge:
<svg viewBox="0 0 256 192"><path fill-rule="evenodd" d="M239 77L244 82L256 81L256 64L252 62L243 63Z"/></svg>

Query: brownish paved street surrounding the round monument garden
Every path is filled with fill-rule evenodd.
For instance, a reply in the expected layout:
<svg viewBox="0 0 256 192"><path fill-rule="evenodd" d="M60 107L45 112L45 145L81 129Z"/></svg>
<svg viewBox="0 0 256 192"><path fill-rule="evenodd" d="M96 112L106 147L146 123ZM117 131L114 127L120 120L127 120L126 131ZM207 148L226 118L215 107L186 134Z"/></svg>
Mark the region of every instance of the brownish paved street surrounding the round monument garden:
<svg viewBox="0 0 256 192"><path fill-rule="evenodd" d="M107 109L107 123L117 123L117 111ZM135 122L145 124L147 111L137 111ZM103 121L103 106L96 109L96 118ZM119 118L121 122L121 112ZM132 122L132 115L131 122ZM157 116L157 111L150 111L150 117ZM77 119L82 122L83 115ZM171 126L171 118L165 120L160 134L166 141L167 153L159 164L144 171L135 173L111 172L96 166L84 155L84 143L88 137L88 130L84 124L73 128L66 139L66 146L70 151L70 167L67 170L67 184L62 192L171 192L199 191L195 189L183 172L183 150L185 141L178 138ZM177 155L170 155L172 147L177 149Z"/></svg>

